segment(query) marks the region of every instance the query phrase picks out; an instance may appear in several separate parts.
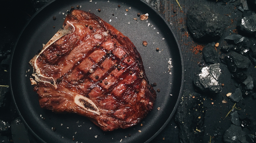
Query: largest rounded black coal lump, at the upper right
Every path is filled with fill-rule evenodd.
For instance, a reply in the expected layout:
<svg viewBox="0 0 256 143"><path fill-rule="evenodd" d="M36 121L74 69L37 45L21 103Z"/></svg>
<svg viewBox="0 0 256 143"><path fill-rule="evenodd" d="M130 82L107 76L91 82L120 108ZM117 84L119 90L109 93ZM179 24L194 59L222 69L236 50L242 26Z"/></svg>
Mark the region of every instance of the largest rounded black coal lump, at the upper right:
<svg viewBox="0 0 256 143"><path fill-rule="evenodd" d="M193 38L202 42L220 39L226 22L224 16L207 5L196 4L187 12L187 25Z"/></svg>

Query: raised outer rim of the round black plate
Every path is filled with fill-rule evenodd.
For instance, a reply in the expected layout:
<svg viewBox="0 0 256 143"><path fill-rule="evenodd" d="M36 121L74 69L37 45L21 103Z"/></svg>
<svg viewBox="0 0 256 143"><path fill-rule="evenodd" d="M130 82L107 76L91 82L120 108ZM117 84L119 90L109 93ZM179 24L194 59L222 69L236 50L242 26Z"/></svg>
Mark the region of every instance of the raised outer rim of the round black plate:
<svg viewBox="0 0 256 143"><path fill-rule="evenodd" d="M46 143L41 137L39 137L32 129L31 127L28 125L28 123L25 121L25 119L23 118L23 116L21 115L20 113L20 110L18 109L18 106L15 102L15 98L14 98L14 94L13 94L13 90L12 90L12 78L11 78L11 71L12 71L12 61L13 61L13 54L14 54L14 51L16 49L16 46L20 40L20 36L22 35L22 33L25 31L25 29L27 28L27 26L29 25L29 23L38 15L38 13L40 13L45 7L49 6L50 4L52 4L53 2L55 2L56 0L52 0L52 1L49 1L47 4L44 4L44 6L42 6L38 11L36 11L32 17L27 21L27 23L24 25L24 27L22 28L20 34L18 35L18 38L12 48L12 53L11 53L11 60L10 60L10 66L9 66L9 85L10 85L10 92L11 92L11 96L12 96L12 100L13 100L13 104L15 105L15 108L16 108L16 111L20 117L20 119L22 120L23 124L26 126L26 128L28 128L28 130L33 134L33 136L36 137L36 139L38 139L40 142L42 143ZM173 118L173 115L175 114L177 108L178 108L178 105L180 103L180 98L181 98L181 94L182 94L182 91L183 91L183 87L184 87L184 79L185 79L185 72L184 72L184 58L183 58L183 54L182 54L182 50L181 50L181 47L180 47L180 43L177 39L177 36L176 34L174 33L171 25L167 22L167 20L164 18L164 16L159 12L157 11L152 5L150 5L148 2L146 2L145 0L138 0L140 2L142 2L143 4L146 4L148 6L148 8L150 8L151 10L153 10L154 12L156 12L156 14L164 21L165 25L167 25L167 27L170 29L173 37L174 37L174 40L178 46L178 50L179 50L179 56L180 56L180 62L181 62L181 83L180 83L180 92L179 92L179 96L177 98L177 101L176 101L176 104L172 110L172 113L170 114L170 116L168 117L168 119L165 121L165 123L160 127L160 129L152 136L150 137L148 140L145 141L145 143L148 143L150 141L152 141L160 132L163 131L163 129L166 127L166 125L170 122L170 120Z"/></svg>

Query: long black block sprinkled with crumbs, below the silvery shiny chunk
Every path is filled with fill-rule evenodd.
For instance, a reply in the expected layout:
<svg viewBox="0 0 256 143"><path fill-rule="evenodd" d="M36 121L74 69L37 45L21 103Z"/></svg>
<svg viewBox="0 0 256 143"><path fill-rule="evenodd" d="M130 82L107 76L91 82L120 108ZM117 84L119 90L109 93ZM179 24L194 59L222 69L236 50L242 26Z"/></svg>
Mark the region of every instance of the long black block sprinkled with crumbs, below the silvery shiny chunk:
<svg viewBox="0 0 256 143"><path fill-rule="evenodd" d="M175 121L180 127L180 141L183 143L203 143L204 99L198 93L183 91Z"/></svg>

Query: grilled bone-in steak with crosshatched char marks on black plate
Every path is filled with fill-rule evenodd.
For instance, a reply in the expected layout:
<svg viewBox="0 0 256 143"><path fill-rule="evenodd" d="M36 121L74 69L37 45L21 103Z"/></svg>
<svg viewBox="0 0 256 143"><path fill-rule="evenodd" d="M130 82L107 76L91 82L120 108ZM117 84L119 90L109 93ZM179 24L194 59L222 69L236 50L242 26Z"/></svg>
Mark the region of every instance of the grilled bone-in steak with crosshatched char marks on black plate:
<svg viewBox="0 0 256 143"><path fill-rule="evenodd" d="M153 109L156 91L135 46L90 12L71 11L29 63L42 108L85 116L103 131L136 125Z"/></svg>

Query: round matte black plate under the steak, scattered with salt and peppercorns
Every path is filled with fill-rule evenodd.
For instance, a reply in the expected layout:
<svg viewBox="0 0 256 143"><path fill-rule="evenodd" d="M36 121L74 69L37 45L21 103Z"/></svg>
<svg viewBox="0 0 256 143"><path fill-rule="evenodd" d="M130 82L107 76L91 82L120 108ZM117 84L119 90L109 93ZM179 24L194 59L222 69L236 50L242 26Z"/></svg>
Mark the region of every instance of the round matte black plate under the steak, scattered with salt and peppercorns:
<svg viewBox="0 0 256 143"><path fill-rule="evenodd" d="M76 114L55 114L41 109L36 92L30 84L32 68L28 61L62 26L67 10L76 5L91 11L128 36L140 52L150 83L156 82L157 98L153 111L142 120L143 126L103 132L90 120ZM118 5L121 5L119 8ZM129 9L130 7L130 9ZM101 9L100 12L97 9ZM128 9L128 11L125 11ZM112 15L114 13L114 16ZM148 13L141 21L137 13ZM56 16L56 20L52 17ZM133 20L137 18L138 20ZM110 20L111 19L111 20ZM129 23L129 24L128 24ZM149 25L150 23L150 25ZM56 28L54 29L53 26ZM164 39L163 39L164 38ZM143 46L146 40L148 46ZM156 48L160 52L156 51ZM169 58L172 66L168 71ZM30 70L29 70L30 69ZM118 0L55 0L49 2L30 19L12 51L11 91L20 118L42 142L149 142L163 130L172 118L181 96L184 65L181 49L169 23L145 1ZM169 73L172 74L169 74ZM160 109L158 108L160 107ZM159 110L158 110L158 109ZM44 119L43 119L44 118ZM56 131L52 131L52 127ZM138 132L140 130L141 132ZM128 137L131 134L131 137Z"/></svg>

